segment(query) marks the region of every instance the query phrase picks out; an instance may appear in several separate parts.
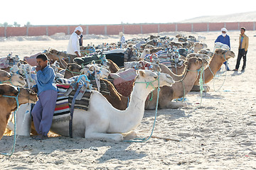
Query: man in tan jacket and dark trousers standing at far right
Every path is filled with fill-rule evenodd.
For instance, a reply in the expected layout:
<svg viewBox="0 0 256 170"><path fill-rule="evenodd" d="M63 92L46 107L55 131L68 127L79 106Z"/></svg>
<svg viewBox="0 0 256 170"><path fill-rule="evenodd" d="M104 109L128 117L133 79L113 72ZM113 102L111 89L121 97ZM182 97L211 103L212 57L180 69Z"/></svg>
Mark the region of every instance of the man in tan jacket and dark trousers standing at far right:
<svg viewBox="0 0 256 170"><path fill-rule="evenodd" d="M247 35L245 35L245 28L242 27L240 30L240 37L239 37L239 47L238 47L238 59L237 59L237 64L235 65L235 69L233 71L238 71L239 65L241 58L243 60L242 64L242 70L241 72L245 72L245 67L246 67L246 55L247 55L247 50L249 46L249 38Z"/></svg>

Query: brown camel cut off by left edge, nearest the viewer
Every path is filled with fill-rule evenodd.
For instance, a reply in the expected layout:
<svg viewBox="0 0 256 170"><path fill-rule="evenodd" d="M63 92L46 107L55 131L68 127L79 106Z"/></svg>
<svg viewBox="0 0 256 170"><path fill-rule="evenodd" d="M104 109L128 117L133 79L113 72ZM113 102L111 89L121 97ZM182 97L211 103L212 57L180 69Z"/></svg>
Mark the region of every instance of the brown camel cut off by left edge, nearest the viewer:
<svg viewBox="0 0 256 170"><path fill-rule="evenodd" d="M18 96L19 104L36 103L38 101L36 93L30 89L23 87L17 89L17 87L9 84L0 84L0 140L4 135L11 112L17 108L16 99L6 96Z"/></svg>

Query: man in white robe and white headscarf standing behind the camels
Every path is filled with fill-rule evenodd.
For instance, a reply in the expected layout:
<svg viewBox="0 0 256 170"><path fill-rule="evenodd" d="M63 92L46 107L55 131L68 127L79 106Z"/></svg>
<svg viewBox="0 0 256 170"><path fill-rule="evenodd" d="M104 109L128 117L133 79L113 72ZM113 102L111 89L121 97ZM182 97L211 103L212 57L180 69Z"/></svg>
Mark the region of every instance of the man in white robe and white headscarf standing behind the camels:
<svg viewBox="0 0 256 170"><path fill-rule="evenodd" d="M82 33L82 27L78 26L75 28L74 33L70 35L70 40L68 41L68 50L67 54L70 58L71 61L73 62L73 59L75 57L81 57L80 53L80 45L79 45L79 39L80 39L80 34Z"/></svg>

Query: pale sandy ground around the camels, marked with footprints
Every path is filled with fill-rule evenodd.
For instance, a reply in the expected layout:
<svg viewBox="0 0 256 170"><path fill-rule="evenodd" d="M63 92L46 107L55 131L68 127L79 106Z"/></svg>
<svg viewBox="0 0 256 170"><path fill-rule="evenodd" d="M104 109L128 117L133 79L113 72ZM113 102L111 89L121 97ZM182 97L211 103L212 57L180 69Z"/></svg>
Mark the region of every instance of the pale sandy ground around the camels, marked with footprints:
<svg viewBox="0 0 256 170"><path fill-rule="evenodd" d="M206 44L213 50L213 42L220 32L183 34L206 36ZM231 50L236 55L229 61L230 69L235 68L239 34L239 31L228 33ZM201 108L196 108L201 101L200 93L191 92L186 96L188 108L159 110L153 136L164 139L114 142L51 137L37 141L20 136L13 156L0 156L0 169L256 169L256 31L246 34L250 45L245 72L240 72L240 66L239 72L227 72L226 77L224 73L210 81L210 91L203 94ZM148 35L125 36L129 39ZM117 40L117 36L110 39L102 36L84 42L100 44ZM24 57L48 47L66 50L67 45L68 40L2 40L0 56L12 51ZM145 111L136 129L139 137L150 135L154 115L155 111ZM4 136L0 152L9 152L13 139Z"/></svg>

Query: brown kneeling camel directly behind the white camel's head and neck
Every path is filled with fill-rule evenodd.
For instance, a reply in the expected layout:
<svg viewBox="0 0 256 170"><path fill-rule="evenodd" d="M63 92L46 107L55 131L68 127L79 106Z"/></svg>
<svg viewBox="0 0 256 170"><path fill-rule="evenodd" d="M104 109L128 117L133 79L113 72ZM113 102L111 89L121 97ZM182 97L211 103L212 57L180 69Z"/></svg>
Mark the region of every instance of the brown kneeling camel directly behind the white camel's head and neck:
<svg viewBox="0 0 256 170"><path fill-rule="evenodd" d="M159 92L159 108L179 108L186 106L186 103L172 102L173 99L181 98L184 94L191 91L196 78L198 77L198 70L206 67L208 62L203 62L202 59L191 57L188 59L188 69L185 77L181 81L175 82L172 86L163 86ZM157 90L153 91L151 101L146 101L145 109L156 108Z"/></svg>

